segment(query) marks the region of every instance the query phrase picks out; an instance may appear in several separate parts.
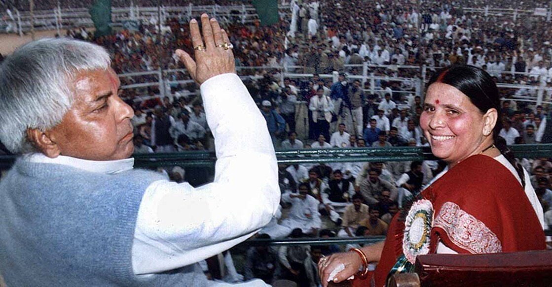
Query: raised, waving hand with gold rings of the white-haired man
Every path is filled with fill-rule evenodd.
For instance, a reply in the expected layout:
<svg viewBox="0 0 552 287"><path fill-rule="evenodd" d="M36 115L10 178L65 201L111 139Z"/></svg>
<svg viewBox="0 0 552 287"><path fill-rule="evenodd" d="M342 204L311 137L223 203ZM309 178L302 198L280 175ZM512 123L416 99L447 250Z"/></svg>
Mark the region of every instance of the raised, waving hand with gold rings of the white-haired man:
<svg viewBox="0 0 552 287"><path fill-rule="evenodd" d="M226 31L220 28L215 18L209 20L205 13L201 15L201 28L203 40L199 33L198 21L190 21L195 61L183 50L175 51L192 78L200 85L216 75L236 73L234 55Z"/></svg>

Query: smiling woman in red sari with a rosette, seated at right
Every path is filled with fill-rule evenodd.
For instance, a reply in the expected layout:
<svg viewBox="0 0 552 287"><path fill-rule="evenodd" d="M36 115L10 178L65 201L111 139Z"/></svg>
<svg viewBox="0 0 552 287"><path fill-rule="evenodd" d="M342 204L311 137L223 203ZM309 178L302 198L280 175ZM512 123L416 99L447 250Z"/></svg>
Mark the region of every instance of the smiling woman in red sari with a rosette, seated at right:
<svg viewBox="0 0 552 287"><path fill-rule="evenodd" d="M389 275L412 272L420 254L545 248L542 207L528 173L498 137L500 119L498 90L482 69L452 66L433 75L420 126L448 170L392 219L385 243L362 248L368 261L379 261L376 286ZM328 257L319 264L323 284L341 263L346 268L330 280L356 273L360 258L352 252Z"/></svg>

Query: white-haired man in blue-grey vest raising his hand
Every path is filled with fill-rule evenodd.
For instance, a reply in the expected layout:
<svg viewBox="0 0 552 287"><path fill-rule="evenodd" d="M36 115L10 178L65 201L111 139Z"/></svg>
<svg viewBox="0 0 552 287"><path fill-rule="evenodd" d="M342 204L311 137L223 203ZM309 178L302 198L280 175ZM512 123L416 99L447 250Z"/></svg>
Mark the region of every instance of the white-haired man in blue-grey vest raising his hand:
<svg viewBox="0 0 552 287"><path fill-rule="evenodd" d="M215 180L199 188L132 168L134 113L103 48L39 40L1 64L0 140L22 154L0 182L8 286L217 285L197 262L270 221L280 192L266 124L225 31L201 22L203 39L190 21L195 61L176 51L215 137ZM244 142L243 130L256 137Z"/></svg>

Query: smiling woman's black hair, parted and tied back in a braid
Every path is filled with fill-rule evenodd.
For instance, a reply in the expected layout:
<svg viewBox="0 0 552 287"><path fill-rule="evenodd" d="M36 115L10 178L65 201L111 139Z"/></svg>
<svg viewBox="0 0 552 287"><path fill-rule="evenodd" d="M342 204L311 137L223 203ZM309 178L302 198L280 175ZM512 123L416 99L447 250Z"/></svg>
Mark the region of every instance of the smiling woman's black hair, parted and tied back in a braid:
<svg viewBox="0 0 552 287"><path fill-rule="evenodd" d="M505 158L516 168L522 185L525 187L523 169L518 165L513 152L506 146L506 140L498 136L502 129L502 109L498 88L492 77L483 69L469 65L453 65L440 70L432 75L427 86L433 83L443 83L451 85L468 96L471 103L482 113L490 109L497 112L495 128L493 128L493 143L500 150Z"/></svg>

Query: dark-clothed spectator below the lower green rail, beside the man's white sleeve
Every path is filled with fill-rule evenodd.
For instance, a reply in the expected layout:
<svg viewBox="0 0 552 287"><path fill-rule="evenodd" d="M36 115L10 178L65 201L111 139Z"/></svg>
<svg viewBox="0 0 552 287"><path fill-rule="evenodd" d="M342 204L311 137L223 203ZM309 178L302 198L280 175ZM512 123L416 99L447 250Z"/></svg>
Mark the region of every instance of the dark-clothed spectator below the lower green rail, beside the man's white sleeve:
<svg viewBox="0 0 552 287"><path fill-rule="evenodd" d="M271 238L268 234L259 234L257 239ZM243 269L245 280L259 278L267 284L272 284L281 272L278 253L268 245L250 247L246 253L246 262Z"/></svg>

